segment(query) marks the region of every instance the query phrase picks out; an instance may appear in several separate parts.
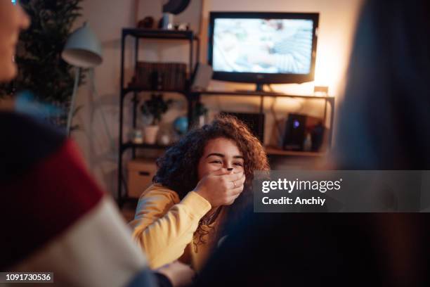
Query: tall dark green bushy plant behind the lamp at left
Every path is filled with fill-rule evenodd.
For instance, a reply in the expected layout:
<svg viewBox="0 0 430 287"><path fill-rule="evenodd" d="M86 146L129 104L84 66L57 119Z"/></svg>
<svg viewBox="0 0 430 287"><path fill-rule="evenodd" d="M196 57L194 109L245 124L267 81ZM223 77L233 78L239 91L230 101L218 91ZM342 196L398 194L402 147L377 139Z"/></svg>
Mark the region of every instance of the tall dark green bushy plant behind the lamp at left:
<svg viewBox="0 0 430 287"><path fill-rule="evenodd" d="M15 89L32 91L40 101L68 103L74 70L62 60L61 53L74 21L81 15L82 0L21 0L20 4L32 23L20 34ZM79 85L84 82L82 72ZM8 94L7 85L0 86L1 94Z"/></svg>

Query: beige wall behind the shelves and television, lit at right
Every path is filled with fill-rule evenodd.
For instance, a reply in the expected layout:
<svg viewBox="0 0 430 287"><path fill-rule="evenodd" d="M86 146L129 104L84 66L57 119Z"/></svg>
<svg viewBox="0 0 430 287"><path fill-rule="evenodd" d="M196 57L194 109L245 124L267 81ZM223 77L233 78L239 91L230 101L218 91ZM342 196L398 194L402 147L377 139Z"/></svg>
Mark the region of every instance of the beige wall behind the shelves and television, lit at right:
<svg viewBox="0 0 430 287"><path fill-rule="evenodd" d="M139 17L145 12L156 11L157 1L142 1ZM294 11L320 12L320 34L318 39L315 84L328 85L330 94L341 94L342 79L351 46L353 27L361 0L204 0L202 21L201 60L206 58L206 31L209 11ZM134 20L133 0L86 0L83 3L84 16L103 44L103 64L95 69L97 93L91 93L89 84L79 89L78 105L83 105L74 122L82 127L74 132L89 169L104 189L110 193L117 190L117 142L119 117L119 63L120 35L122 27L131 27ZM81 23L82 23L81 21ZM78 23L79 26L81 23ZM133 41L128 39L126 53L126 81L131 77ZM188 46L182 42L145 41L141 48L141 59L159 61L187 61ZM87 83L91 82L87 79ZM311 94L314 83L277 85L279 91L295 94ZM254 89L246 84L212 82L212 89ZM141 95L145 98L148 94ZM168 94L174 98L174 108L164 117L165 126L178 115L185 115L185 101L182 96ZM233 98L211 96L204 98L211 110L211 116L219 110L258 112L258 98ZM228 105L226 105L228 103ZM289 112L308 113L321 116L323 106L315 101L299 101L291 98L266 99L266 144L271 141L273 120L285 118ZM124 109L125 126L131 126L130 105ZM127 132L127 130L126 130ZM124 138L125 140L125 138Z"/></svg>

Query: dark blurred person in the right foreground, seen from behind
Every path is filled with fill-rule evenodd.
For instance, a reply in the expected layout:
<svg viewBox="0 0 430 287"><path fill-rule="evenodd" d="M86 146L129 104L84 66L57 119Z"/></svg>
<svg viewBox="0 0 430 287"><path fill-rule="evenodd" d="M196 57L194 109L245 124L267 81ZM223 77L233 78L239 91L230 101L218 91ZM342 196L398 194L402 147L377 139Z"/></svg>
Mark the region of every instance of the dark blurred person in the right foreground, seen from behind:
<svg viewBox="0 0 430 287"><path fill-rule="evenodd" d="M366 1L340 106L339 170L430 170L430 2ZM255 214L197 286L430 286L429 215Z"/></svg>

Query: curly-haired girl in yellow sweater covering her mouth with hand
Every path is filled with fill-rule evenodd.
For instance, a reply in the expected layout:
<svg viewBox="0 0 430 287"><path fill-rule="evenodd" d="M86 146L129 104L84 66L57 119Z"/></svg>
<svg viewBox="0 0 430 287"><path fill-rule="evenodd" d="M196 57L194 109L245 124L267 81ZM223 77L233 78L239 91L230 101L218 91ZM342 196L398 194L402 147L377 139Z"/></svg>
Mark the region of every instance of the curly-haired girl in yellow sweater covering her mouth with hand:
<svg viewBox="0 0 430 287"><path fill-rule="evenodd" d="M179 259L196 270L249 203L254 170L269 170L260 141L228 115L190 131L157 167L130 223L133 238L150 267Z"/></svg>

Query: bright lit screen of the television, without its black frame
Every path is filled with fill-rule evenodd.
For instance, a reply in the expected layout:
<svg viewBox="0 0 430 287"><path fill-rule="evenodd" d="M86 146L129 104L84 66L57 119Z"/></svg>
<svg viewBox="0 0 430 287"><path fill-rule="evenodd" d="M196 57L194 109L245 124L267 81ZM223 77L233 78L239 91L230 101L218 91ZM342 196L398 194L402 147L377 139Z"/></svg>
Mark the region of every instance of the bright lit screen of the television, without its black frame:
<svg viewBox="0 0 430 287"><path fill-rule="evenodd" d="M308 74L313 21L215 19L214 71Z"/></svg>

